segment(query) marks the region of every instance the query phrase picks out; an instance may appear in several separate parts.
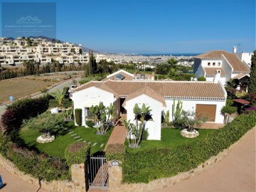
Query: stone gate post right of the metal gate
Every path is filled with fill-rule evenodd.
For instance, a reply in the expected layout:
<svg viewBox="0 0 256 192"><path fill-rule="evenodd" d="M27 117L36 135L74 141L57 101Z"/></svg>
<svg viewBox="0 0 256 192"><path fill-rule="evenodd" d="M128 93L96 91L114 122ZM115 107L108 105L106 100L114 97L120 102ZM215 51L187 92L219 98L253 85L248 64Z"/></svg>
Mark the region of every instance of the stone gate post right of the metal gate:
<svg viewBox="0 0 256 192"><path fill-rule="evenodd" d="M108 161L109 191L118 191L122 184L122 167ZM121 162L119 161L119 164Z"/></svg>

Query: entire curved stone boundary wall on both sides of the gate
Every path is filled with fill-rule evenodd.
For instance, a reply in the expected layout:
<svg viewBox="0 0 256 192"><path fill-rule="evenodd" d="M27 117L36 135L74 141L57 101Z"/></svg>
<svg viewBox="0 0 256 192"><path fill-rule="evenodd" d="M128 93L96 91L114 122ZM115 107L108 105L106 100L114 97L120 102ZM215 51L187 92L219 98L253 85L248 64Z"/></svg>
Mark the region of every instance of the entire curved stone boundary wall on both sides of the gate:
<svg viewBox="0 0 256 192"><path fill-rule="evenodd" d="M249 132L252 132L252 130L250 130ZM247 132L246 134L248 134L249 132ZM222 160L225 156L227 156L228 153L233 149L233 147L236 146L239 142L241 142L244 137L245 136L243 136L238 142L235 142L235 144L232 144L228 149L221 151L218 155L212 156L210 159L208 159L203 164L200 164L195 169L192 169L190 171L186 171L183 173L179 173L176 176L173 176L171 178L156 179L154 181L150 181L149 183L132 183L132 184L122 183L122 167L112 166L112 161L109 161L108 162L109 191L110 192L117 192L117 191L144 192L144 191L154 191L155 189L172 186L175 183L179 183L188 178L191 178L191 176L196 176L198 174L201 174L203 171L210 169L212 166L214 166L220 160ZM122 164L122 163L119 162L119 164ZM0 154L0 166L4 167L4 169L6 169L6 171L9 171L10 174L18 176L23 181L26 181L27 183L31 183L34 186L38 186L38 188L41 183L41 188L44 188L48 191L59 191L59 192L87 191L87 184L85 182L85 171L86 171L85 164L77 164L72 166L71 168L72 181L50 181L50 182L48 181L39 182L37 178L33 178L33 176L29 174L24 174L22 171L19 171L11 161L1 156L1 154Z"/></svg>

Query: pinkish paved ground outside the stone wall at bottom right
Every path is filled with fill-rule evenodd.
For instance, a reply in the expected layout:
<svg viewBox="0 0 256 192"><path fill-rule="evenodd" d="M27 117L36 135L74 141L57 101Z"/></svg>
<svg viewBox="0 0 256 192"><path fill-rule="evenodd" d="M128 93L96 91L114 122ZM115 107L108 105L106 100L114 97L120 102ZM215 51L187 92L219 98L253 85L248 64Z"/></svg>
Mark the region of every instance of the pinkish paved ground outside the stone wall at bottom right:
<svg viewBox="0 0 256 192"><path fill-rule="evenodd" d="M256 127L213 168L186 181L176 183L174 186L161 188L154 192L255 192L255 134Z"/></svg>

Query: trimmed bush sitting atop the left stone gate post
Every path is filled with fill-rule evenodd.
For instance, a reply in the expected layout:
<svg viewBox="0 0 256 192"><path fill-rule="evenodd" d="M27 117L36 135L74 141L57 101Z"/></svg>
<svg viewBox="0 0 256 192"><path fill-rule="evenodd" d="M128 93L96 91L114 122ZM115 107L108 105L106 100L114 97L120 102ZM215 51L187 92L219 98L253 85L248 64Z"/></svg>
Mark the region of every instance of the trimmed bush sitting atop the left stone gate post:
<svg viewBox="0 0 256 192"><path fill-rule="evenodd" d="M90 154L90 145L84 142L70 144L65 150L65 159L71 167L73 164L85 164Z"/></svg>

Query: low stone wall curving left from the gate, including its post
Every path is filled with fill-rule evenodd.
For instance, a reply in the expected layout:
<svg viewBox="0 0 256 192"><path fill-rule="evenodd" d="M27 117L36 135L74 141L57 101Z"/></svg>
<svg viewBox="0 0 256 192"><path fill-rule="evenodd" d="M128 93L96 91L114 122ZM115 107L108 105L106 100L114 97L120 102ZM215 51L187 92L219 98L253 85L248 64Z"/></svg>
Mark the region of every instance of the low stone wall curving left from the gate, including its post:
<svg viewBox="0 0 256 192"><path fill-rule="evenodd" d="M0 154L0 166L2 166L6 171L14 176L18 176L21 180L31 183L34 186L41 185L41 188L48 191L58 191L58 192L77 192L85 191L85 164L73 165L71 168L72 181L45 181L42 180L39 182L38 178L33 178L30 174L25 174L22 171L19 171L18 168L9 161L5 159Z"/></svg>

